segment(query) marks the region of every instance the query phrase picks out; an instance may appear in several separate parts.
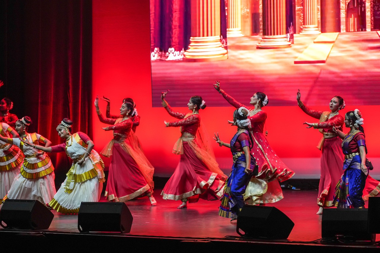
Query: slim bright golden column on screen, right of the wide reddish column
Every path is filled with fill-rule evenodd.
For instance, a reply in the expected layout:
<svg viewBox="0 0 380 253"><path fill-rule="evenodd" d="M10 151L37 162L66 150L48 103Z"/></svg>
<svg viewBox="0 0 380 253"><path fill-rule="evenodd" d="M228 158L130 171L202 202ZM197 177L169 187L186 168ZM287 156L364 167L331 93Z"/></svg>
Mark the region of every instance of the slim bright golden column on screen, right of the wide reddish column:
<svg viewBox="0 0 380 253"><path fill-rule="evenodd" d="M304 0L303 34L320 33L318 29L318 0Z"/></svg>

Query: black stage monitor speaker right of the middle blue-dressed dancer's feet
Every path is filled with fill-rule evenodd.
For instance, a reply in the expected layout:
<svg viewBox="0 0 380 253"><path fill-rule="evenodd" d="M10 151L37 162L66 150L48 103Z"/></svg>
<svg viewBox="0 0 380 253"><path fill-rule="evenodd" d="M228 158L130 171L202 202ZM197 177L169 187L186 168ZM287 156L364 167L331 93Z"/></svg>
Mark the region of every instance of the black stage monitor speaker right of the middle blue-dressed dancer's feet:
<svg viewBox="0 0 380 253"><path fill-rule="evenodd" d="M236 232L252 238L287 239L293 227L294 222L275 207L245 205L237 217Z"/></svg>

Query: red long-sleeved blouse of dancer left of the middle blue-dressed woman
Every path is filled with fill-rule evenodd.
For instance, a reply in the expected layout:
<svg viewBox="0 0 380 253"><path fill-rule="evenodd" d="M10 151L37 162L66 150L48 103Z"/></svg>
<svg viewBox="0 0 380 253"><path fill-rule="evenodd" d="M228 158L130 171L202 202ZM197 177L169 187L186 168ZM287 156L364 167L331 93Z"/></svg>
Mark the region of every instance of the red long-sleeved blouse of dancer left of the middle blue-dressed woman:
<svg viewBox="0 0 380 253"><path fill-rule="evenodd" d="M199 114L184 114L180 112L175 112L171 109L171 107L166 106L166 111L173 117L180 119L177 121L172 121L168 123L168 126L182 126L182 133L190 133L192 135L196 135L196 131L201 123L201 116ZM185 116L188 115L186 118Z"/></svg>

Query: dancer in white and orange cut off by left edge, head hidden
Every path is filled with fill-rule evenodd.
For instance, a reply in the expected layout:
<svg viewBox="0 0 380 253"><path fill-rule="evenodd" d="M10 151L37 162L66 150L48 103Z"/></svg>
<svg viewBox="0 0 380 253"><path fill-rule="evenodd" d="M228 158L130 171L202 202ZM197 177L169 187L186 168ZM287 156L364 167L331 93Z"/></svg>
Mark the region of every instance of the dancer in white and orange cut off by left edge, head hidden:
<svg viewBox="0 0 380 253"><path fill-rule="evenodd" d="M0 135L5 138L18 138L19 134L8 124L0 123ZM14 178L20 173L24 155L18 147L0 141L0 197L11 188Z"/></svg>

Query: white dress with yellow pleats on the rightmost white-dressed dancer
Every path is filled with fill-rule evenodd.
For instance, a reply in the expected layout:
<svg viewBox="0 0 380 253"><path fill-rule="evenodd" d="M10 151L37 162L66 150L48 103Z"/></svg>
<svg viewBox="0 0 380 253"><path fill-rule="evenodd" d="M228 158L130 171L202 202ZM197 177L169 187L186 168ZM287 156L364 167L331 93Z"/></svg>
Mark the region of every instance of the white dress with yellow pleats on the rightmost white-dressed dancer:
<svg viewBox="0 0 380 253"><path fill-rule="evenodd" d="M92 150L84 163L79 165L87 150L87 144L78 133L66 142L65 151L73 159L67 177L50 201L49 206L57 212L65 214L78 213L81 202L97 202L100 199L104 179L104 163L99 154Z"/></svg>

